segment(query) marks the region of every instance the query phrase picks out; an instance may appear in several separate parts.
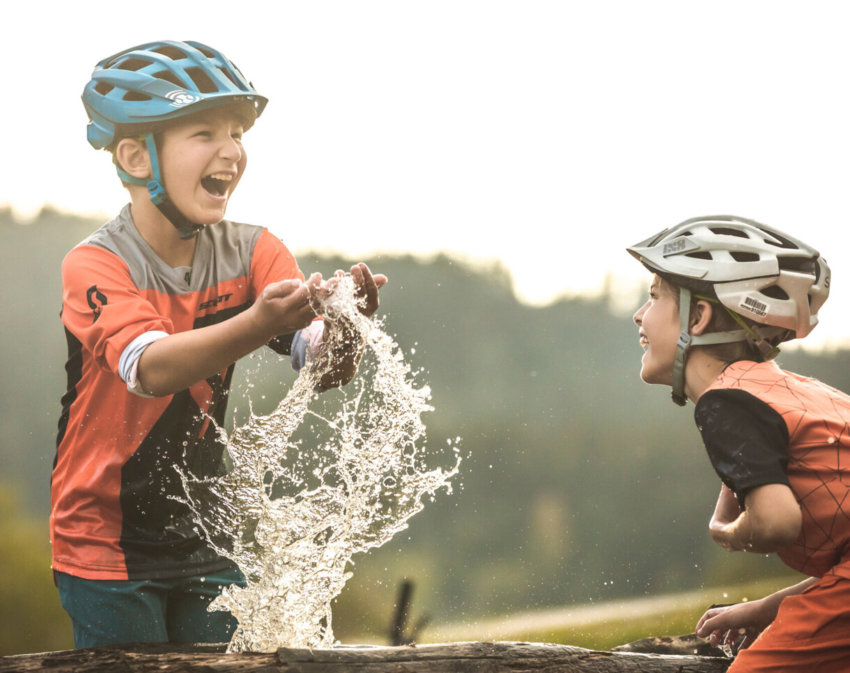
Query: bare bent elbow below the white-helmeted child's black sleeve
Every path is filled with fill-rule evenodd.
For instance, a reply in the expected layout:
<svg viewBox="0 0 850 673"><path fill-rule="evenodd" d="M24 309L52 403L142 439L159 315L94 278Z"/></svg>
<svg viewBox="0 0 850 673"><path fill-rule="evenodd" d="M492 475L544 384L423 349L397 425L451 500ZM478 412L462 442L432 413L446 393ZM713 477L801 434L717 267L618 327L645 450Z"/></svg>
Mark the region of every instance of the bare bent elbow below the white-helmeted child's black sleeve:
<svg viewBox="0 0 850 673"><path fill-rule="evenodd" d="M742 511L734 493L726 486L721 488L709 532L723 549L769 554L799 536L802 512L785 484L753 488L746 494L745 504Z"/></svg>

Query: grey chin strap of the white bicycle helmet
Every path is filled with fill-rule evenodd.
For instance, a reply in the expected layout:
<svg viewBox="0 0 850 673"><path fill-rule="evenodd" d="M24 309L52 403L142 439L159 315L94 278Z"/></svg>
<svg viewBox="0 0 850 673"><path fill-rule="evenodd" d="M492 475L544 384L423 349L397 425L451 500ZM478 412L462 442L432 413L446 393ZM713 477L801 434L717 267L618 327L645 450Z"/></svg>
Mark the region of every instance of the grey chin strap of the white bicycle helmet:
<svg viewBox="0 0 850 673"><path fill-rule="evenodd" d="M717 304L717 299L709 299L700 295L694 295L697 299L706 299L712 304ZM760 334L756 328L747 325L737 313L729 311L725 306L724 309L732 316L735 322L738 322L743 329L734 329L728 332L710 332L708 334L690 334L690 300L691 291L688 288L679 288L679 326L682 328L679 334L679 339L676 343L676 360L673 362L673 383L672 383L672 398L680 407L684 407L688 403L688 397L685 396L685 360L688 354L688 349L694 345L709 345L709 344L730 344L734 341L751 340L753 344L762 351L762 355L766 360L772 359L779 352L779 348L770 345L767 338L775 334L781 334L785 330L781 328L772 328L765 326Z"/></svg>

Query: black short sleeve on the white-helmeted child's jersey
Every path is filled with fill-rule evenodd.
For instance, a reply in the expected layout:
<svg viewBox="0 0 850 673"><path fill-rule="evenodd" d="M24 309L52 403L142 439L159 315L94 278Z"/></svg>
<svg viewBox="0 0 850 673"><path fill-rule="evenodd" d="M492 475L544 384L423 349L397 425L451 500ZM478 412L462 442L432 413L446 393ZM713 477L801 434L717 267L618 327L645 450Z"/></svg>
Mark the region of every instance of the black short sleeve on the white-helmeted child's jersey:
<svg viewBox="0 0 850 673"><path fill-rule="evenodd" d="M694 410L714 471L738 496L788 482L788 426L774 408L746 391L707 391Z"/></svg>

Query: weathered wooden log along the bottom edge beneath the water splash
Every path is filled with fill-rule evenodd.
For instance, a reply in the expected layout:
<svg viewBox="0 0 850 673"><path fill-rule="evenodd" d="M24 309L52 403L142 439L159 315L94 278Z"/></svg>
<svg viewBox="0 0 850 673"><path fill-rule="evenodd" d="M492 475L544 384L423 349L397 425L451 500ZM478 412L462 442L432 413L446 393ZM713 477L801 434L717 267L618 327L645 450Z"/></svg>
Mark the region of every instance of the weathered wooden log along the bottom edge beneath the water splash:
<svg viewBox="0 0 850 673"><path fill-rule="evenodd" d="M0 671L49 673L723 673L730 659L597 652L539 642L332 649L281 647L275 653L225 653L218 644L134 643L0 658Z"/></svg>

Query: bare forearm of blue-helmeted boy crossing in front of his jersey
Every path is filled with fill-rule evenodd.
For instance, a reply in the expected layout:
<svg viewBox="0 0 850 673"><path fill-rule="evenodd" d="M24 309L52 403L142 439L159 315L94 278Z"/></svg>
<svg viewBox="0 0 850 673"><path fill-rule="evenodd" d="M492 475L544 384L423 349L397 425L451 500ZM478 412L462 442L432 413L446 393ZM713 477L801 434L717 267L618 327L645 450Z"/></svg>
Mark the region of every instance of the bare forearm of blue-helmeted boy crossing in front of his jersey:
<svg viewBox="0 0 850 673"><path fill-rule="evenodd" d="M269 339L245 311L215 325L156 340L139 357L137 376L151 395L171 395L222 372Z"/></svg>

